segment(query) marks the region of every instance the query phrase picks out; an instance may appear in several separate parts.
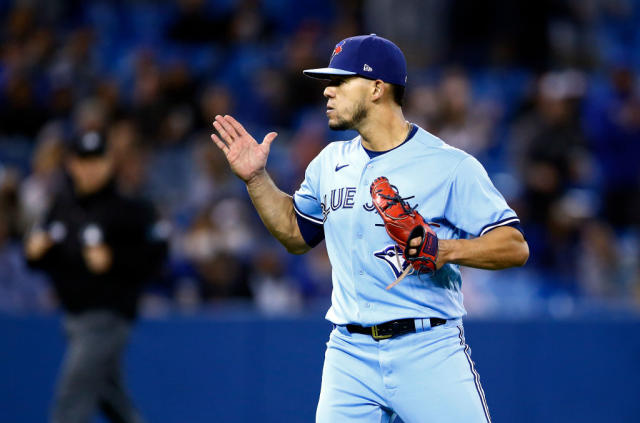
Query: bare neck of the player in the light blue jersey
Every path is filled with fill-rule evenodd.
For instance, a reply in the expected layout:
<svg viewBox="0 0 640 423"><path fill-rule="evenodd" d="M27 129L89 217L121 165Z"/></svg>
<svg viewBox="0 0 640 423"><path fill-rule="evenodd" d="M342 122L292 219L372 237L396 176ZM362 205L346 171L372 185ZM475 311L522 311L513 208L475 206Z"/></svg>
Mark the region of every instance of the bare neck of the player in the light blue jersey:
<svg viewBox="0 0 640 423"><path fill-rule="evenodd" d="M387 110L372 115L358 128L362 146L371 151L387 151L402 144L411 131L402 109Z"/></svg>

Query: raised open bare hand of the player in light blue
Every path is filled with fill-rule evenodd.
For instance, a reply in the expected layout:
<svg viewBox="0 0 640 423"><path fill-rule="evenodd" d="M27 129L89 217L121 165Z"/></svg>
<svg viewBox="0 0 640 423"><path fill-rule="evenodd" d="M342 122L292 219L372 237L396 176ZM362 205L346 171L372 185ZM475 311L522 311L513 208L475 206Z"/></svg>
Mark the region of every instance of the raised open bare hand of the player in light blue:
<svg viewBox="0 0 640 423"><path fill-rule="evenodd" d="M244 127L229 115L216 116L213 127L220 136L211 135L222 150L233 173L245 182L262 172L267 164L271 143L278 136L275 132L265 135L261 144Z"/></svg>

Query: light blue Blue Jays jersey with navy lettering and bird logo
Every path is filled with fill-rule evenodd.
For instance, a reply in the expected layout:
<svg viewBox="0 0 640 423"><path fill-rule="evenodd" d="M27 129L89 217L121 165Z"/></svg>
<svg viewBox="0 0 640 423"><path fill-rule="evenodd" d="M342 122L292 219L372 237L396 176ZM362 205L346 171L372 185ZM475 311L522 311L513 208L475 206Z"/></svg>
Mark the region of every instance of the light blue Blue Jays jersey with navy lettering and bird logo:
<svg viewBox="0 0 640 423"><path fill-rule="evenodd" d="M376 154L360 137L329 144L308 166L294 194L307 243L326 239L333 268L327 319L370 326L403 318L457 319L466 314L457 265L434 275L409 275L390 290L405 266L372 205L369 187L386 176L440 239L483 235L503 225L519 228L516 213L482 165L422 128L400 146Z"/></svg>

